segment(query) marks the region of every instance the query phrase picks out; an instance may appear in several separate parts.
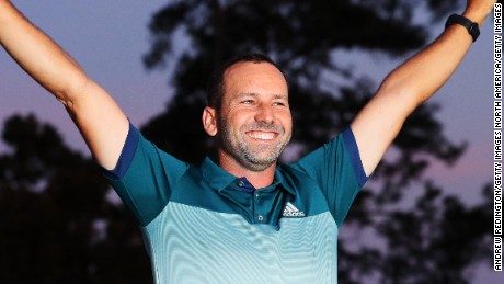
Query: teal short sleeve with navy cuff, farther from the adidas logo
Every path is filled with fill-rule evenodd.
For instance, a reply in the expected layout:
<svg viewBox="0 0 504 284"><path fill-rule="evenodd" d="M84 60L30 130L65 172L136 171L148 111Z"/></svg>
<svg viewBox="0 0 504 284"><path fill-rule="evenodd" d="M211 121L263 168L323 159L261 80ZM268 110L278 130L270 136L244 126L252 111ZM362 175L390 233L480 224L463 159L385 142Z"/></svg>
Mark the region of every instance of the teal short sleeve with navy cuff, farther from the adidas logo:
<svg viewBox="0 0 504 284"><path fill-rule="evenodd" d="M160 150L130 124L116 168L102 172L138 224L146 226L168 204L171 189L186 169L186 163Z"/></svg>

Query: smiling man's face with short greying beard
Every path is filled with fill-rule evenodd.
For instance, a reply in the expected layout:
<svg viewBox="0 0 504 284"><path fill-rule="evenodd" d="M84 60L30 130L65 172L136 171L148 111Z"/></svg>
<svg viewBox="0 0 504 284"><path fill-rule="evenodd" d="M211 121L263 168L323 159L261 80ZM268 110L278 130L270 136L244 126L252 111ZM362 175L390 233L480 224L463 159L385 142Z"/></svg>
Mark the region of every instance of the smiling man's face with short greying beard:
<svg viewBox="0 0 504 284"><path fill-rule="evenodd" d="M220 151L248 170L274 164L290 140L293 121L288 88L268 63L238 63L225 73L217 114Z"/></svg>

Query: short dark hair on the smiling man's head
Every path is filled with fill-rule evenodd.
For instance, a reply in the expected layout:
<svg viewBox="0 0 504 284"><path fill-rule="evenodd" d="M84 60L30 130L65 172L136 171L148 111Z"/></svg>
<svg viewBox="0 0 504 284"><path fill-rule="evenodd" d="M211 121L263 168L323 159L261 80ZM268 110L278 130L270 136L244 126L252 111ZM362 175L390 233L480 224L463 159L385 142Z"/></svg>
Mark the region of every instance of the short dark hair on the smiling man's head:
<svg viewBox="0 0 504 284"><path fill-rule="evenodd" d="M243 53L238 56L234 56L231 59L227 60L224 65L221 65L220 68L216 69L216 71L214 71L214 73L210 76L206 93L206 104L208 106L214 107L216 110L220 110L225 89L224 75L226 73L226 70L228 70L231 66L238 63L268 63L275 66L284 75L282 69L267 55L260 53Z"/></svg>

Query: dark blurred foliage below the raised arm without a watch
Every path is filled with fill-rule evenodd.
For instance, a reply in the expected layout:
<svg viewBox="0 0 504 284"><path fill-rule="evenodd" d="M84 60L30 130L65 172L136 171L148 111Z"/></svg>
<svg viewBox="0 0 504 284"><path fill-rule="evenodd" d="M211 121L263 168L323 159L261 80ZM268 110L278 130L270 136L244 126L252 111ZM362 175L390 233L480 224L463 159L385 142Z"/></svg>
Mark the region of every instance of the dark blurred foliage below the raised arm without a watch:
<svg viewBox="0 0 504 284"><path fill-rule="evenodd" d="M94 161L33 115L3 129L0 283L152 282L140 231Z"/></svg>

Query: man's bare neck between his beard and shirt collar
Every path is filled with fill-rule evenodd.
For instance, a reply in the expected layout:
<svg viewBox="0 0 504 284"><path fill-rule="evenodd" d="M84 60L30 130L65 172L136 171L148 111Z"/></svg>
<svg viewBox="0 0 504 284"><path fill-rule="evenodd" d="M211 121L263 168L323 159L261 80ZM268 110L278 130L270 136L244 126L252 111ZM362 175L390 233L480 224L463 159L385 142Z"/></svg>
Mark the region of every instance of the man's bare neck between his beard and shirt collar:
<svg viewBox="0 0 504 284"><path fill-rule="evenodd" d="M252 185L254 185L255 189L261 189L271 185L273 183L276 170L275 162L274 164L267 167L263 171L252 171L243 167L236 159L222 152L219 152L219 166L225 171L238 178L245 177L247 180L250 183L252 183Z"/></svg>

